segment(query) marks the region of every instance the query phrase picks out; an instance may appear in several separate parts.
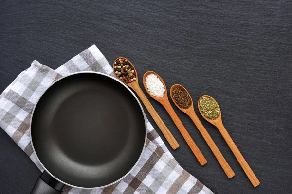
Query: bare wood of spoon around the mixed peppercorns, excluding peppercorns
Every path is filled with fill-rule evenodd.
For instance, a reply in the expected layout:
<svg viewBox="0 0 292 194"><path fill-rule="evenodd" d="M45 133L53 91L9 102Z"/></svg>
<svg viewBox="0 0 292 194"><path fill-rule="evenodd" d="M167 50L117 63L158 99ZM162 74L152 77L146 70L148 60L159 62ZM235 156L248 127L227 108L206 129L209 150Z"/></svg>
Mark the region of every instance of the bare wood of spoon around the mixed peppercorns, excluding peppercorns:
<svg viewBox="0 0 292 194"><path fill-rule="evenodd" d="M125 57L119 57L119 58L126 59ZM118 60L119 58L117 58L116 60ZM116 60L114 60L114 61L116 61ZM127 61L130 63L130 65L132 67L134 67L134 65L128 59L127 59ZM113 62L113 69L114 69L114 62ZM135 67L134 67L134 70L136 72L136 80L132 81L131 83L125 83L125 82L124 83L126 85L128 85L128 87L132 88L136 92L136 94L140 97L141 101L145 105L146 109L148 110L148 112L152 116L153 120L155 121L155 123L157 124L157 126L159 127L161 132L163 133L165 139L168 141L168 143L172 147L172 149L174 149L174 150L177 149L180 146L179 143L173 137L173 135L171 134L169 129L165 126L164 122L162 121L162 119L160 118L158 113L155 111L155 109L153 108L153 106L151 105L151 103L149 102L149 100L147 99L147 97L145 96L143 91L141 90L139 83L138 83L138 72L136 71Z"/></svg>

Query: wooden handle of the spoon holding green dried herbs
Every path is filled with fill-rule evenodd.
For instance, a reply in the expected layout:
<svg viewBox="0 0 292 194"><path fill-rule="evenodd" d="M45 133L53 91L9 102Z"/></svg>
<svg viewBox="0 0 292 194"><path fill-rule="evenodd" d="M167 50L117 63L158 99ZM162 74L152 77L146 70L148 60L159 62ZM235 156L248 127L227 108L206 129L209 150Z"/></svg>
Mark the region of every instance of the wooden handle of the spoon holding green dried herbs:
<svg viewBox="0 0 292 194"><path fill-rule="evenodd" d="M234 141L231 139L229 133L223 126L222 122L217 125L217 128L219 129L221 135L225 139L226 143L230 147L231 151L235 155L237 161L239 162L241 168L244 170L247 177L250 179L254 187L259 185L259 180L256 178L255 173L252 171L251 167L248 165L248 163L243 158L242 154L240 153L239 149L235 145Z"/></svg>

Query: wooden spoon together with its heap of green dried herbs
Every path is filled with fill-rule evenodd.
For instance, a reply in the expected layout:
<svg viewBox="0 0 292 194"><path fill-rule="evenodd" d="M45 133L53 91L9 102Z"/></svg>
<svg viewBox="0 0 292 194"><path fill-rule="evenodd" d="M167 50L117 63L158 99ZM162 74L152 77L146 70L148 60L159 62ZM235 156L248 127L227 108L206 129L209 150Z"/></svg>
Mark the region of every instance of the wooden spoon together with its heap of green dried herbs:
<svg viewBox="0 0 292 194"><path fill-rule="evenodd" d="M239 149L235 145L234 141L231 139L229 133L223 126L220 107L218 103L215 101L215 99L208 95L200 97L198 101L198 108L202 117L204 117L204 119L206 119L208 122L215 125L219 129L221 135L223 136L227 145L230 147L231 151L235 155L237 161L239 162L241 168L243 169L247 177L250 179L254 187L258 186L260 182L256 178L255 173L252 171L251 167L245 161Z"/></svg>

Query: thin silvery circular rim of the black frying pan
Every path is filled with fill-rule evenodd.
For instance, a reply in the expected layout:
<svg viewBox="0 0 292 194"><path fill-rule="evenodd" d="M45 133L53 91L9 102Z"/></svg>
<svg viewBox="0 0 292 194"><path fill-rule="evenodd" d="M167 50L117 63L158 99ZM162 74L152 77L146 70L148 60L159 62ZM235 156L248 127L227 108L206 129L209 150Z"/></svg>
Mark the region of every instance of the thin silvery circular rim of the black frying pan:
<svg viewBox="0 0 292 194"><path fill-rule="evenodd" d="M99 74L99 75L102 75L102 76L106 76L106 77L109 77L111 79L113 79L114 81L117 81L118 83L120 83L123 87L127 88L127 90L132 94L133 97L135 97L135 99L137 100L139 106L140 106L140 109L143 113L143 118L144 118L144 123L145 123L145 140L144 140L144 145L143 145L143 149L141 151L141 154L137 160L137 162L133 165L133 167L121 178L119 178L118 180L115 180L114 182L110 183L110 184L107 184L107 185L103 185L103 186L99 186L99 187L79 187L79 186L75 186L75 185L72 185L72 184L69 184L69 183L66 183L65 181L62 181L58 178L56 178L52 173L50 173L49 170L46 169L46 167L42 164L42 162L39 160L38 156L37 156L37 152L35 150L35 147L34 147L34 144L33 144L33 139L32 139L32 130L31 130L31 125L32 125L32 120L33 120L33 116L34 116L34 112L35 112L35 109L37 107L37 103L38 101L40 100L40 98L43 96L43 94L50 88L52 87L56 82L66 78L66 77L69 77L69 76L72 76L72 75L76 75L76 74L81 74L81 73L92 73L92 74ZM53 83L51 83L51 85L42 93L42 95L40 97L38 97L37 99L37 102L36 102L36 105L34 106L33 108L33 111L32 111L32 115L31 115L31 119L30 119L30 125L29 125L29 129L30 129L30 138L31 138L31 144L32 144L32 147L33 147L33 151L35 152L35 155L37 157L37 161L40 163L40 165L44 168L45 171L47 171L47 173L49 175L51 175L53 178L55 178L56 180L58 180L59 182L65 184L65 185L68 185L68 186L71 186L71 187L74 187L74 188L78 188L78 189L98 189L98 188L105 188L105 187L108 187L110 185L113 185L117 182L119 182L120 180L122 180L123 178L127 177L128 174L130 174L130 172L133 171L133 169L137 166L138 162L140 162L141 158L142 158L142 155L145 151L145 147L146 147L146 140L147 140L147 123L146 123L146 114L143 110L143 107L138 99L138 97L130 90L130 88L128 88L128 86L126 86L123 82L119 81L118 79L108 75L108 74L105 74L105 73L100 73L100 72L94 72L94 71L81 71L81 72L75 72L75 73L71 73L71 74L68 74L66 76L63 76L61 77L60 79L54 81Z"/></svg>

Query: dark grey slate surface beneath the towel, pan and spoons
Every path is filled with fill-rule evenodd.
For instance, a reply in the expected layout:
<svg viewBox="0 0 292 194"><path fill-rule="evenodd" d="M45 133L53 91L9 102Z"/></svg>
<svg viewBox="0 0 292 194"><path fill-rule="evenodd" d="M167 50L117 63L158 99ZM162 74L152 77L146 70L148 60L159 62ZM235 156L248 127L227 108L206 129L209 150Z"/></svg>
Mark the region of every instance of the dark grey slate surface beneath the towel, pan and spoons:
<svg viewBox="0 0 292 194"><path fill-rule="evenodd" d="M212 191L290 194L291 19L292 1L284 0L1 1L0 92L34 59L56 68L96 44L110 63L118 56L131 60L141 86L153 70L167 89L179 83L195 102L204 94L218 101L226 129L261 182L257 188L214 126L199 116L234 178L173 105L208 160L201 167L163 107L149 98L181 145L171 150L174 157ZM0 140L1 193L29 193L38 170L3 131Z"/></svg>

